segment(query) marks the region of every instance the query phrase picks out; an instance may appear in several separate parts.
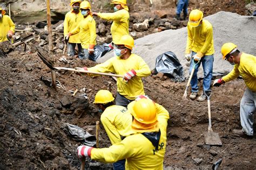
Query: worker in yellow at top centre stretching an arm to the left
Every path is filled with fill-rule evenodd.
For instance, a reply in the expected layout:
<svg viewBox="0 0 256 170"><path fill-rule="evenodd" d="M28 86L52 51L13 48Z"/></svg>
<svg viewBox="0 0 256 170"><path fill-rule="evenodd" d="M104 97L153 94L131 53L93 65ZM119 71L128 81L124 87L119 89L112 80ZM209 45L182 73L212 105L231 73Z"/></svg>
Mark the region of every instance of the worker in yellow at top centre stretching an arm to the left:
<svg viewBox="0 0 256 170"><path fill-rule="evenodd" d="M112 42L117 44L123 35L129 35L130 15L126 0L114 0L111 3L114 4L113 13L93 12L93 15L106 19L107 21L113 21L110 31ZM113 49L112 43L110 47Z"/></svg>

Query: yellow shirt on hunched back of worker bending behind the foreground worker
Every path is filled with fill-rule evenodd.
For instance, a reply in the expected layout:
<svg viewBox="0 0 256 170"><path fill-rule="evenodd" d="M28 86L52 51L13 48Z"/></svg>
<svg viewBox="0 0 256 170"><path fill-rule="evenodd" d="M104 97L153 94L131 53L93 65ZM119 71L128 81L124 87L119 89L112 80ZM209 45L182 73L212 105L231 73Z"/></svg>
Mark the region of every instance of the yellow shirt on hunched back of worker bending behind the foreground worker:
<svg viewBox="0 0 256 170"><path fill-rule="evenodd" d="M132 125L132 115L126 107L112 105L104 110L100 116L100 121L102 121L113 145L122 141L121 136L125 137L129 132Z"/></svg>

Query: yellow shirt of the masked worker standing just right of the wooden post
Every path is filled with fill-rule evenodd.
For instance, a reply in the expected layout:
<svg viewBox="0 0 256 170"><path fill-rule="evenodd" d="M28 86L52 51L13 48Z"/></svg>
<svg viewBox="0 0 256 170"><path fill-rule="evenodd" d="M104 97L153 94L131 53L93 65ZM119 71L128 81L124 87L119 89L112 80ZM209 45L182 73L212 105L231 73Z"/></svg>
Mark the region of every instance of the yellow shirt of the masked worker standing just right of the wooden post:
<svg viewBox="0 0 256 170"><path fill-rule="evenodd" d="M82 21L84 16L82 15L81 11L78 14L72 12L73 10L69 11L65 15L64 20L64 36L68 35L73 29L77 27L77 25ZM79 33L76 35L69 37L69 43L81 43Z"/></svg>

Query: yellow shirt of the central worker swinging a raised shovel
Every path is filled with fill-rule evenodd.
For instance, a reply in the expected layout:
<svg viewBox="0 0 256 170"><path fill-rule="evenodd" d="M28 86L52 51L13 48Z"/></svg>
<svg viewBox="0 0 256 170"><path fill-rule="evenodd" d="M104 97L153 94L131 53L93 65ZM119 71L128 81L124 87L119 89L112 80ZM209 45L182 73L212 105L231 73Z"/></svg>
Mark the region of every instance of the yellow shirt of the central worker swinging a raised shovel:
<svg viewBox="0 0 256 170"><path fill-rule="evenodd" d="M134 69L136 76L129 80L127 83L123 81L122 77L117 78L117 91L125 98L134 100L137 96L144 93L142 77L149 76L151 74L149 66L144 60L134 55L133 53L127 59L121 59L120 57L112 57L102 64L98 64L94 67L88 68L89 71L96 72L112 72L115 74L124 75L128 71Z"/></svg>

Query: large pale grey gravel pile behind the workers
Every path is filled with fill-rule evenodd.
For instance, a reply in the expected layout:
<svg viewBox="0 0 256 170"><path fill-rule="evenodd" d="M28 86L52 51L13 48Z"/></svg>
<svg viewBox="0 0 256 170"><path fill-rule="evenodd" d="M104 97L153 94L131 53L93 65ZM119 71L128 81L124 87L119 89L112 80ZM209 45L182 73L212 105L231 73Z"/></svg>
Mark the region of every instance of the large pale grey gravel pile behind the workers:
<svg viewBox="0 0 256 170"><path fill-rule="evenodd" d="M213 72L227 73L233 69L233 66L224 61L221 57L221 46L226 42L233 42L238 45L238 49L256 56L256 17L240 16L237 13L220 11L214 15L205 17L213 25L214 40L214 63ZM228 22L227 22L228 21ZM178 57L185 70L185 76L188 76L188 62L184 57L187 40L187 28L177 30L166 30L135 40L133 53L141 56L145 62L154 69L156 57L166 51L172 51ZM110 52L99 59L99 62L113 57ZM202 74L200 66L200 76Z"/></svg>

